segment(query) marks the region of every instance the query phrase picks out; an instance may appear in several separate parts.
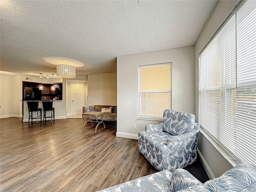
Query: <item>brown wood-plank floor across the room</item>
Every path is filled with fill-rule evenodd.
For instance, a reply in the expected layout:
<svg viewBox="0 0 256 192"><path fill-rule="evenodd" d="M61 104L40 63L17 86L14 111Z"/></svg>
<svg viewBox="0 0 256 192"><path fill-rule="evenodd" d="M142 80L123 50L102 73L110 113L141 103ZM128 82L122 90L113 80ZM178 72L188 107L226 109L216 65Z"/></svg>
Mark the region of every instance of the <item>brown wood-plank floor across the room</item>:
<svg viewBox="0 0 256 192"><path fill-rule="evenodd" d="M138 140L116 137L116 124L82 119L22 122L0 119L0 191L94 192L158 172L138 152ZM205 182L198 160L186 168Z"/></svg>

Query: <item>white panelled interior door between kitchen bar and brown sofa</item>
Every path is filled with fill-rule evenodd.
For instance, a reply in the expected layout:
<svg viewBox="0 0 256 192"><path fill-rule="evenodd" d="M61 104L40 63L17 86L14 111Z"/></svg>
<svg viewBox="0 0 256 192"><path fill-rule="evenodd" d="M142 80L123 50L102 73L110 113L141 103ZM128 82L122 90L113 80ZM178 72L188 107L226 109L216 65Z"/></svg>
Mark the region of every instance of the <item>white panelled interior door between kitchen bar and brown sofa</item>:
<svg viewBox="0 0 256 192"><path fill-rule="evenodd" d="M84 105L84 82L71 82L72 115L81 115Z"/></svg>

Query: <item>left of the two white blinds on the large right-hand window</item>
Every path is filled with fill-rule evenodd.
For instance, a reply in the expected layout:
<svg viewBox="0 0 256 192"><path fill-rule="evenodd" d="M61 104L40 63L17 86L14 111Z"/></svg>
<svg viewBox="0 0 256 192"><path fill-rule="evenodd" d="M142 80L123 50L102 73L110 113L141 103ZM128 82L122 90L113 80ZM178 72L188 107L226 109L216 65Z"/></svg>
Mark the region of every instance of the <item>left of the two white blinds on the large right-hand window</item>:
<svg viewBox="0 0 256 192"><path fill-rule="evenodd" d="M232 91L236 88L235 44L236 20L233 16L200 55L199 122L230 150L234 148Z"/></svg>

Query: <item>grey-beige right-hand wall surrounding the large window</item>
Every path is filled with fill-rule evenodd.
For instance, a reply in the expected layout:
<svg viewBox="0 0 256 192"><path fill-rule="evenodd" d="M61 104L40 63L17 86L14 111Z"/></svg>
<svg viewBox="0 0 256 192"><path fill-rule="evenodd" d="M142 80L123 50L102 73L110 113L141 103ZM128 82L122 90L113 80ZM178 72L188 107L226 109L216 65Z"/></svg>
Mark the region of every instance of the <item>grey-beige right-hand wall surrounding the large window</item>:
<svg viewBox="0 0 256 192"><path fill-rule="evenodd" d="M195 85L196 85L196 121L198 120L198 56L203 50L204 46L209 42L209 40L214 36L223 22L228 18L230 13L239 4L240 1L219 1L216 8L214 9L212 15L210 16L206 26L204 27L202 33L200 34L196 45L195 45ZM217 150L213 144L200 132L198 137L198 149L201 152L203 159L207 165L204 165L206 170L211 172L213 177L218 177L222 175L226 170L229 170L233 165L224 158L224 156ZM210 176L210 175L209 175Z"/></svg>

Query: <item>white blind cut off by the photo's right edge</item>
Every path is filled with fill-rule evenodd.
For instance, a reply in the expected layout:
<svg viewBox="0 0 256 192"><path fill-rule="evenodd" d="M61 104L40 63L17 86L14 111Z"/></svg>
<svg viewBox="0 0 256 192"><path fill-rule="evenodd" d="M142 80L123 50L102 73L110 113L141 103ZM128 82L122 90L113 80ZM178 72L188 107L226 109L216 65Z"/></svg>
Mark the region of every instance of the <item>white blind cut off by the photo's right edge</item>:
<svg viewBox="0 0 256 192"><path fill-rule="evenodd" d="M256 163L256 1L236 12L237 89L235 100L235 155Z"/></svg>

